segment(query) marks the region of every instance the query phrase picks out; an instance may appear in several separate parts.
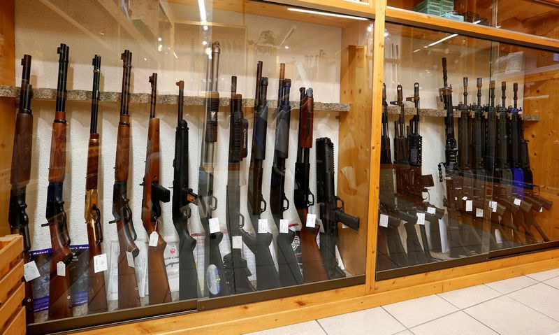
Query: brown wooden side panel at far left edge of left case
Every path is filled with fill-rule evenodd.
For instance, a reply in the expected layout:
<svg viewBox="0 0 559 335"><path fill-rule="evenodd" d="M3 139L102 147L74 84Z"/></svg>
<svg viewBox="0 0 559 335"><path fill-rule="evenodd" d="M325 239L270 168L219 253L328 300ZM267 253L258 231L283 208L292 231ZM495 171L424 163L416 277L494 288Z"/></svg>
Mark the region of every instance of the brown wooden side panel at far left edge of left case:
<svg viewBox="0 0 559 335"><path fill-rule="evenodd" d="M0 85L15 84L14 2L0 3ZM12 162L15 99L0 98L0 236L10 234L8 202Z"/></svg>

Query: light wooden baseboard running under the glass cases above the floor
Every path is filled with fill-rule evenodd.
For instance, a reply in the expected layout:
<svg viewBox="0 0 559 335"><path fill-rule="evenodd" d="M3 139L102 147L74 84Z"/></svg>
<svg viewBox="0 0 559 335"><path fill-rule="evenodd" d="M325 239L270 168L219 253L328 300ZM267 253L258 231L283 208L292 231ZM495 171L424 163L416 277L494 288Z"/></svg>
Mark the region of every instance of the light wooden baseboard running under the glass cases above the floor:
<svg viewBox="0 0 559 335"><path fill-rule="evenodd" d="M365 295L365 285L357 285L298 297L91 329L80 334L242 334L361 311L558 267L559 250L549 250L383 280L377 283L374 294ZM407 285L409 283L411 284Z"/></svg>

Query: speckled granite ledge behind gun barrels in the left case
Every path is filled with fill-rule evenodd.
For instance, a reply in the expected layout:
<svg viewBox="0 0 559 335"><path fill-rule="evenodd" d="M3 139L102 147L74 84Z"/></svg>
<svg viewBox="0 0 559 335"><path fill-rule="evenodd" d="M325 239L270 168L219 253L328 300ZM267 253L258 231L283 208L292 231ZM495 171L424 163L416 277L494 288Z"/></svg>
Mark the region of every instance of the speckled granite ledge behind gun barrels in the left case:
<svg viewBox="0 0 559 335"><path fill-rule="evenodd" d="M53 100L56 98L57 90L53 88L34 88L33 89L33 99L41 100ZM2 86L0 85L0 97L19 97L20 87L13 86ZM92 92L85 90L69 90L68 101L89 101L92 99ZM177 95L174 94L159 94L157 96L157 104L162 105L176 105ZM120 92L101 92L99 94L99 101L105 102L117 102L120 101ZM130 97L130 102L132 104L148 104L150 102L150 94L148 93L132 93ZM203 106L203 97L184 97L185 106ZM290 101L291 108L299 108L299 101ZM219 98L219 106L229 106L228 97ZM254 106L254 99L242 99L242 106L252 107ZM277 100L268 100L268 106L277 106ZM314 101L314 111L335 111L335 112L349 112L349 104L341 103L328 103L328 102L317 102Z"/></svg>

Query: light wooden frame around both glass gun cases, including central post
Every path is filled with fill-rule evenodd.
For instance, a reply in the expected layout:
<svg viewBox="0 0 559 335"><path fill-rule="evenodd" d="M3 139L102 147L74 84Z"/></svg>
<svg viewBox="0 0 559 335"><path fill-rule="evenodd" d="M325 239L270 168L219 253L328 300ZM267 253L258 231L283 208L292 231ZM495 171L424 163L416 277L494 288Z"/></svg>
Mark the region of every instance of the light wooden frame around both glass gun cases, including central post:
<svg viewBox="0 0 559 335"><path fill-rule="evenodd" d="M491 41L512 43L541 50L559 52L559 40L528 34L484 27L465 22L456 22L433 17L410 10L386 6L386 0L371 0L359 3L347 0L269 0L317 10L327 10L346 15L357 15L375 20L372 62L372 103L370 108L370 185L368 222L377 222L379 196L379 156L382 115L382 81L384 67L385 22L407 24L414 27L437 29ZM15 85L14 20L13 0L0 5L0 85ZM556 78L553 77L553 78ZM343 87L342 87L343 88ZM0 98L0 185L9 185L11 150L13 145L13 98ZM343 129L340 129L340 134ZM340 135L342 136L342 135ZM2 187L1 190L6 190ZM9 190L9 188L8 188ZM0 194L0 222L7 218L8 194ZM0 233L8 230L8 224L0 225ZM289 325L296 322L325 318L340 313L363 310L397 301L423 297L428 294L457 290L494 280L521 276L526 273L559 267L559 250L525 250L523 255L493 259L477 264L457 266L418 273L388 280L375 279L377 224L368 224L365 283L335 290L300 294L293 297L240 304L207 311L184 312L178 315L163 315L149 319L134 320L122 325L97 326L84 329L82 334L148 334L148 333L196 333L196 334L240 334L261 329ZM363 252L363 251L361 251ZM153 306L157 308L157 306Z"/></svg>

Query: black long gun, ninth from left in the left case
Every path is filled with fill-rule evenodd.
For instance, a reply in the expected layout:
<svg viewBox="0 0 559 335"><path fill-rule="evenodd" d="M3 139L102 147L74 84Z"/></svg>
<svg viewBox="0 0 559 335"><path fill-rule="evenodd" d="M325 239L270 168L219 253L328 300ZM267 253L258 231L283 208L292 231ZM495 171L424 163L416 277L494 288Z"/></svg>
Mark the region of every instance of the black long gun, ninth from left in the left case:
<svg viewBox="0 0 559 335"><path fill-rule="evenodd" d="M256 261L256 288L269 290L279 287L279 277L275 269L270 244L270 232L259 233L258 224L261 213L266 211L266 201L262 195L263 162L266 158L266 131L268 128L268 78L262 77L262 62L256 66L256 94L254 96L254 129L250 152L249 180L247 189L247 208L250 222L256 237L239 229L242 241L254 253Z"/></svg>

